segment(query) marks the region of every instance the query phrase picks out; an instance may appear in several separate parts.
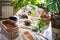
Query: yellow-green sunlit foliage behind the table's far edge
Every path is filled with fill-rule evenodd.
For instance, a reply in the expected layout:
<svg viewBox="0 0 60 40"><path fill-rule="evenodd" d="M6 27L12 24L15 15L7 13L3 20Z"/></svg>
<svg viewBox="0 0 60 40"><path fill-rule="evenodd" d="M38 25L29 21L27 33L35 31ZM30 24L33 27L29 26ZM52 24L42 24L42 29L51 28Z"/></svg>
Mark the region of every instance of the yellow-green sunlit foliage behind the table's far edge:
<svg viewBox="0 0 60 40"><path fill-rule="evenodd" d="M44 0L13 0L11 5L14 7L15 11L18 11L27 5L43 6L44 2Z"/></svg>

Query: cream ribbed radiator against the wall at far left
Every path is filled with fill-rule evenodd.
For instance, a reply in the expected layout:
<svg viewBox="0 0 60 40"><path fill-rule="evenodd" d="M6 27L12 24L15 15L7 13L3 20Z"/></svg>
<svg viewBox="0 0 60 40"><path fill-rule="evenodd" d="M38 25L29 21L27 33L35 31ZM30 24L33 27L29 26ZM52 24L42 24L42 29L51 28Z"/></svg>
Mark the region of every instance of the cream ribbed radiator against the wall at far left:
<svg viewBox="0 0 60 40"><path fill-rule="evenodd" d="M10 6L9 1L2 1L2 18L13 16L13 7Z"/></svg>

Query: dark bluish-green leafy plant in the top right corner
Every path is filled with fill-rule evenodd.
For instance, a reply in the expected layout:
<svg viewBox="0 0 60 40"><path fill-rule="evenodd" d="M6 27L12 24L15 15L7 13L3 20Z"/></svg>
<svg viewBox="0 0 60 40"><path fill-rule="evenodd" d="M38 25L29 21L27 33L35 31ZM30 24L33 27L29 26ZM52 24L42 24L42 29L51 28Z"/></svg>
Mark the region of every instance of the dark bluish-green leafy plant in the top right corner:
<svg viewBox="0 0 60 40"><path fill-rule="evenodd" d="M51 13L58 13L60 15L60 2L59 0L47 0L44 7Z"/></svg>

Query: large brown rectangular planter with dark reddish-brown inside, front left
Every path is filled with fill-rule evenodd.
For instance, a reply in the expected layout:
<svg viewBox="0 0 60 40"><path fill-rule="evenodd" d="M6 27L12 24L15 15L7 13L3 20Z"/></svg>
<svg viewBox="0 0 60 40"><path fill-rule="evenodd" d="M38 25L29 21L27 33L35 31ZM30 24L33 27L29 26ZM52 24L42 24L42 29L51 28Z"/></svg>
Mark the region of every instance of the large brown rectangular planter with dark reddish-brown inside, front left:
<svg viewBox="0 0 60 40"><path fill-rule="evenodd" d="M8 24L9 27L7 27ZM12 20L3 20L1 21L1 25L1 32L7 39L15 39L19 36L19 29ZM13 25L14 27L11 27L10 25Z"/></svg>

